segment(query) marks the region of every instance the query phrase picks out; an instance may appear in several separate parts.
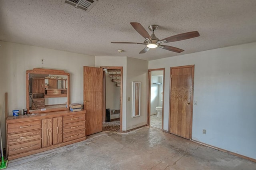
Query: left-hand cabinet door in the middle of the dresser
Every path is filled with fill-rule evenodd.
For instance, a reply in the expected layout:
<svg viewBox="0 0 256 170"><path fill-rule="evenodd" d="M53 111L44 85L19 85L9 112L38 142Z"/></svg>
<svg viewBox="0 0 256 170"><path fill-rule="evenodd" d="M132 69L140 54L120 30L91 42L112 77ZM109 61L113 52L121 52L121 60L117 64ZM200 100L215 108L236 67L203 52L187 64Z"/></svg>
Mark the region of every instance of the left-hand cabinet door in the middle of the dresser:
<svg viewBox="0 0 256 170"><path fill-rule="evenodd" d="M42 147L52 145L52 118L42 119Z"/></svg>

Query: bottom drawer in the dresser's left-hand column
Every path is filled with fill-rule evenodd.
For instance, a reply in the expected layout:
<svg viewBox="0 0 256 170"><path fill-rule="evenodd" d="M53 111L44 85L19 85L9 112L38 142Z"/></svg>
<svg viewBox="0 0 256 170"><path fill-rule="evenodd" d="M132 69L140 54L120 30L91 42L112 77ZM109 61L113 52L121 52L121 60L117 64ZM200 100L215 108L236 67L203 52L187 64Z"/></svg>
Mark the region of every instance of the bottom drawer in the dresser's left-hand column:
<svg viewBox="0 0 256 170"><path fill-rule="evenodd" d="M41 139L8 146L9 156L41 148Z"/></svg>

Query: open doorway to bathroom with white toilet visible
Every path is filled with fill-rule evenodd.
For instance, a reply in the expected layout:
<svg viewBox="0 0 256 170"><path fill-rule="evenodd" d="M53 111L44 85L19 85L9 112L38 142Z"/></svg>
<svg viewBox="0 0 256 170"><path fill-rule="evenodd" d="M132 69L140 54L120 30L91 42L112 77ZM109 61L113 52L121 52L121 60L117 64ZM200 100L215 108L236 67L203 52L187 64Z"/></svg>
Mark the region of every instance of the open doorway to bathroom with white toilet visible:
<svg viewBox="0 0 256 170"><path fill-rule="evenodd" d="M164 68L148 70L148 125L163 129Z"/></svg>

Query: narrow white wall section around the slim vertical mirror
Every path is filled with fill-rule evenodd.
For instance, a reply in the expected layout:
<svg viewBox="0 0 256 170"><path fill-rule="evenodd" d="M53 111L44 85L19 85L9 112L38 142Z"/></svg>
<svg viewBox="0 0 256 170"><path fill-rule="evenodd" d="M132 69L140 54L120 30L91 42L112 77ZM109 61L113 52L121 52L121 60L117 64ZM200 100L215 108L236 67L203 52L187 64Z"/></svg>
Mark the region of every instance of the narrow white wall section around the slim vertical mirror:
<svg viewBox="0 0 256 170"><path fill-rule="evenodd" d="M141 82L140 117L132 118L132 81ZM148 61L127 57L126 130L147 124Z"/></svg>

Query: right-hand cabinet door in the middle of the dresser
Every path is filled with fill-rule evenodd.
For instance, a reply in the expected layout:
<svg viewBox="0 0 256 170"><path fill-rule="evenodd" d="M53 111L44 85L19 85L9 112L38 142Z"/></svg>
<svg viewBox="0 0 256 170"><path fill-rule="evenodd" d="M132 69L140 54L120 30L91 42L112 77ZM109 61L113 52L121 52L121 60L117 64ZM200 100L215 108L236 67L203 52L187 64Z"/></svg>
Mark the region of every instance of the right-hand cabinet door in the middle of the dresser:
<svg viewBox="0 0 256 170"><path fill-rule="evenodd" d="M62 117L52 118L52 144L62 143Z"/></svg>

